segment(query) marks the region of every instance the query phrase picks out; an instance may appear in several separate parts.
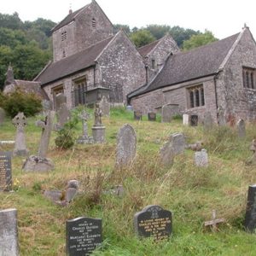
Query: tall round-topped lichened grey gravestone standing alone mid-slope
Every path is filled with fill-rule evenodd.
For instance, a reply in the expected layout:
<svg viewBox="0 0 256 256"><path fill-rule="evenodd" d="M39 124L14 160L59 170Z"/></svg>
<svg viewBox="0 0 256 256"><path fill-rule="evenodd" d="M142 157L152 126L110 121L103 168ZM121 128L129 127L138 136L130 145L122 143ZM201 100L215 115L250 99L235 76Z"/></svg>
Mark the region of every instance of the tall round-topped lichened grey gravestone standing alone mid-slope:
<svg viewBox="0 0 256 256"><path fill-rule="evenodd" d="M136 156L137 136L131 125L123 125L117 137L116 166L128 166Z"/></svg>

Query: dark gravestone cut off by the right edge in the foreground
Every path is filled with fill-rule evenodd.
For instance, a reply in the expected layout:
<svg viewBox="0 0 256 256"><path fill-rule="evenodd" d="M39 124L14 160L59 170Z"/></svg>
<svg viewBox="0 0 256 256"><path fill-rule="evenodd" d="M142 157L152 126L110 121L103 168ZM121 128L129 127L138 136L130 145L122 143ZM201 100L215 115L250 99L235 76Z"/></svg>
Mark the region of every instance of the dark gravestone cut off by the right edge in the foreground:
<svg viewBox="0 0 256 256"><path fill-rule="evenodd" d="M247 209L245 216L245 229L255 232L256 229L256 184L250 185L247 195Z"/></svg>

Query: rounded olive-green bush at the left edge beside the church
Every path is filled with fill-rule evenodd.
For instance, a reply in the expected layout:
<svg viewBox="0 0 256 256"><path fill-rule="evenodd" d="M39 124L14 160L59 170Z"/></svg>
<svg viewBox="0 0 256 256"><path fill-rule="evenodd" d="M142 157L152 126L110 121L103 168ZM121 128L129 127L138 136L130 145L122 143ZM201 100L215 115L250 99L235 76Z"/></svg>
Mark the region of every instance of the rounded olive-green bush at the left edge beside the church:
<svg viewBox="0 0 256 256"><path fill-rule="evenodd" d="M37 95L20 90L15 90L9 95L1 95L0 102L0 107L12 118L19 112L23 112L26 117L29 117L42 110L41 99Z"/></svg>

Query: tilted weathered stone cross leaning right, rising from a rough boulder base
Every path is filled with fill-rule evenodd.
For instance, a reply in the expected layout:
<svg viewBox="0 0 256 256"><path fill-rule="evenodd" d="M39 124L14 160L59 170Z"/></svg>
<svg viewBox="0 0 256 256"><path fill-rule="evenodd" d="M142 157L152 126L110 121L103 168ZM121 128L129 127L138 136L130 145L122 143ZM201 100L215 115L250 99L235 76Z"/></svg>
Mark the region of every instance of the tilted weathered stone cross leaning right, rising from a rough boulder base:
<svg viewBox="0 0 256 256"><path fill-rule="evenodd" d="M41 140L40 140L40 145L38 148L38 156L41 158L46 157L47 150L49 148L49 138L50 138L51 130L53 128L54 118L55 118L55 112L49 110L44 121L38 120L36 122L36 125L43 129L42 135L41 135Z"/></svg>

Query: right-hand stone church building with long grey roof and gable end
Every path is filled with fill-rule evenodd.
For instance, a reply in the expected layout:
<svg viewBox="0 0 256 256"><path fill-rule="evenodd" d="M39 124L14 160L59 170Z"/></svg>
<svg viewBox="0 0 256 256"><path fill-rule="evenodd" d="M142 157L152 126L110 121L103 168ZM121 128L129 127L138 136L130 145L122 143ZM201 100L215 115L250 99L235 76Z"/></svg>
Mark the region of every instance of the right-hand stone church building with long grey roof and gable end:
<svg viewBox="0 0 256 256"><path fill-rule="evenodd" d="M186 52L170 54L153 80L128 95L143 113L165 104L180 113L206 111L215 122L256 119L256 44L245 26L240 33Z"/></svg>

